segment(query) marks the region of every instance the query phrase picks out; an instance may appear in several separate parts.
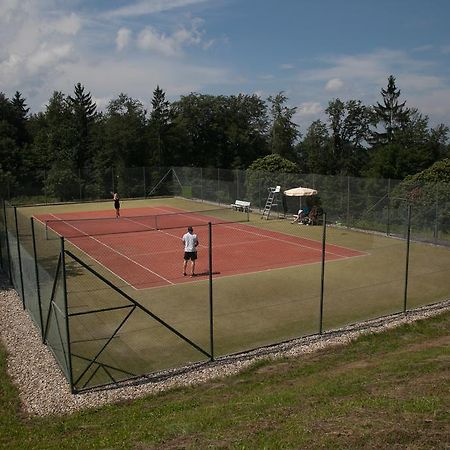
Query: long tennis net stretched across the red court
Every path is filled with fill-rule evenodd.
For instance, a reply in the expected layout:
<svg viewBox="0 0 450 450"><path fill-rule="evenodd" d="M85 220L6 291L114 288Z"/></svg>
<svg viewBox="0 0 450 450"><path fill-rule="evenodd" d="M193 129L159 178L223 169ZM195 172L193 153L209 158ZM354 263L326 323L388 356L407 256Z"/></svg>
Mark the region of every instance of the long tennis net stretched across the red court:
<svg viewBox="0 0 450 450"><path fill-rule="evenodd" d="M45 221L47 239L57 236L67 238L80 236L100 236L108 234L157 231L188 226L207 226L248 222L249 214L231 208L203 211L180 211L145 216L54 218ZM51 232L53 231L53 232Z"/></svg>

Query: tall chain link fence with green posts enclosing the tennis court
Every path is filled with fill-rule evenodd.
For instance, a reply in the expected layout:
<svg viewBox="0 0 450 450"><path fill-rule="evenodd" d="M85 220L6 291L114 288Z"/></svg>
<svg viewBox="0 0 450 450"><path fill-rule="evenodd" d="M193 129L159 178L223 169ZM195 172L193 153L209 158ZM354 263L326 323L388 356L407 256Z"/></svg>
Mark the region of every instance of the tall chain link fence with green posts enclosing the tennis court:
<svg viewBox="0 0 450 450"><path fill-rule="evenodd" d="M75 241L36 219L41 206L24 205L63 198L10 190L17 204L2 202L1 268L73 392L450 296L450 193L443 183L186 167L97 176L64 199L110 199L118 190L122 198L196 211L199 277L183 277L180 256L181 227L193 216L175 223L162 214L154 236L129 228L129 236L141 237L81 232ZM318 194L279 195L263 217L274 186L281 192L310 187ZM238 199L250 202L250 212L232 209ZM306 204L322 209L319 226L291 223ZM44 208L53 206L67 204ZM83 204L73 207L83 210ZM95 240L101 245L93 246ZM130 263L119 267L119 257ZM151 281L152 271L158 282ZM161 277L167 283L159 283Z"/></svg>

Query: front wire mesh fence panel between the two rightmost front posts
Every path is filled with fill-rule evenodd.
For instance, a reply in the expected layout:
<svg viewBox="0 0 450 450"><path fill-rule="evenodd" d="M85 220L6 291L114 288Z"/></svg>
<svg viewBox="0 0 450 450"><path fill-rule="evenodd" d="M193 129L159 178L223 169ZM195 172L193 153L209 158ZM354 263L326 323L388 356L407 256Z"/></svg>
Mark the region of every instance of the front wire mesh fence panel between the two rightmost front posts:
<svg viewBox="0 0 450 450"><path fill-rule="evenodd" d="M406 221L403 226L406 230ZM334 250L331 245L338 247ZM333 226L327 230L328 246L325 329L402 311L406 255L403 239ZM351 256L350 249L359 255ZM348 257L332 261L334 253L340 252Z"/></svg>

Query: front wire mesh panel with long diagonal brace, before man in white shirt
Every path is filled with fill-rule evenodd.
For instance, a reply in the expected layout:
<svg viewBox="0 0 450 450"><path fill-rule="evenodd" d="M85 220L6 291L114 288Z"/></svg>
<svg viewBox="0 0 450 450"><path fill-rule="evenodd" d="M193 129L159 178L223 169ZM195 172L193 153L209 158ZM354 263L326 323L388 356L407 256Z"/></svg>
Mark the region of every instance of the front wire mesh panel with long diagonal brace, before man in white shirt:
<svg viewBox="0 0 450 450"><path fill-rule="evenodd" d="M209 238L195 231L196 277L183 275L185 228L66 242L76 389L209 358Z"/></svg>

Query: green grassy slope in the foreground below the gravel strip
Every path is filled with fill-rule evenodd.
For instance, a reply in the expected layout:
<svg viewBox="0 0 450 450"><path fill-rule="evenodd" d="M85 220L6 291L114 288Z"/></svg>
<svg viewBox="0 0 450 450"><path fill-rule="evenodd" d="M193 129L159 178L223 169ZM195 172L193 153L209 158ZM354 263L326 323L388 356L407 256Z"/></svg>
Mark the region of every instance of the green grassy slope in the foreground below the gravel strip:
<svg viewBox="0 0 450 450"><path fill-rule="evenodd" d="M45 419L0 351L2 448L446 448L450 313L238 376ZM448 448L448 447L447 447Z"/></svg>

